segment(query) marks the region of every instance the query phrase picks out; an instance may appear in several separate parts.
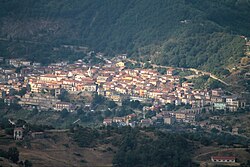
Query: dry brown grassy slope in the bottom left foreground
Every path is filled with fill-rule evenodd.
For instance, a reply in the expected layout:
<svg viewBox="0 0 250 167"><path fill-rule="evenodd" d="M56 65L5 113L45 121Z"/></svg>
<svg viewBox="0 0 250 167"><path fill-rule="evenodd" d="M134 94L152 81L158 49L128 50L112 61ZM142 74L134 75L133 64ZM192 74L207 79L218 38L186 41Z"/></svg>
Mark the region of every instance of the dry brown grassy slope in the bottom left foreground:
<svg viewBox="0 0 250 167"><path fill-rule="evenodd" d="M16 141L8 144L0 142L0 149L16 146ZM19 144L18 144L19 145ZM68 133L48 133L46 138L32 139L30 145L16 146L20 160L29 160L35 167L71 167L71 166L112 166L113 152L107 151L110 145L97 145L94 148L79 148ZM6 164L7 163L7 164ZM0 160L0 166L13 166L6 160Z"/></svg>

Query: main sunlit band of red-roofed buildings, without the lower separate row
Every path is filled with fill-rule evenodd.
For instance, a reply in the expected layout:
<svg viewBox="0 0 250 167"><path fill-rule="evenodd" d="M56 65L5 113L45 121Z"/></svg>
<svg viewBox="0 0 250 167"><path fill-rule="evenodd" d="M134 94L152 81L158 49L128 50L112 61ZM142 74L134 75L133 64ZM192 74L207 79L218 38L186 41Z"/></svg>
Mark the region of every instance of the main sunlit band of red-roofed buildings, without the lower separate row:
<svg viewBox="0 0 250 167"><path fill-rule="evenodd" d="M0 58L0 61L4 60ZM62 90L72 94L97 92L117 103L129 98L152 102L155 106L189 104L192 109L212 106L229 111L246 106L246 101L232 95L226 96L222 89L195 90L193 83L180 84L180 77L174 75L173 68L166 69L166 74L160 74L155 69L127 69L120 59L95 66L89 66L82 60L73 64L60 62L41 66L22 59L9 59L5 60L5 64L9 66L0 69L0 98L8 104L16 99L11 96L11 90L20 91L29 86L29 93L18 97L18 103L44 109L74 110L73 104L58 99ZM43 95L50 90L54 90L55 94ZM184 121L189 119L185 118Z"/></svg>

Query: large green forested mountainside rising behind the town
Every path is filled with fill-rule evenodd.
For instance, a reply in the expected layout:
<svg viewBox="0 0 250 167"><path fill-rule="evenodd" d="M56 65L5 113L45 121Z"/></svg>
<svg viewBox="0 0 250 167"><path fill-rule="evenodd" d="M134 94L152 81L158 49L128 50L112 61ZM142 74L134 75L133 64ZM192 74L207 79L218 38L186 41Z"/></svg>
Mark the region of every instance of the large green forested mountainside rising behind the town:
<svg viewBox="0 0 250 167"><path fill-rule="evenodd" d="M61 45L88 46L216 73L243 56L249 9L248 0L2 0L0 51L46 62L84 56Z"/></svg>

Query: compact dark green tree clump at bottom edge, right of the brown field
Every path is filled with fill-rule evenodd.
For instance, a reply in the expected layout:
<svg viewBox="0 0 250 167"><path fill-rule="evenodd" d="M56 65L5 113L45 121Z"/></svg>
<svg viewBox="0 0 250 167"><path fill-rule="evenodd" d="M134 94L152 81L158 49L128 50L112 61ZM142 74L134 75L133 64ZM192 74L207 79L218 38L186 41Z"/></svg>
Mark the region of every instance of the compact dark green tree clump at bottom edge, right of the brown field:
<svg viewBox="0 0 250 167"><path fill-rule="evenodd" d="M122 134L115 166L191 166L190 144L176 134L155 133L156 139L134 129Z"/></svg>

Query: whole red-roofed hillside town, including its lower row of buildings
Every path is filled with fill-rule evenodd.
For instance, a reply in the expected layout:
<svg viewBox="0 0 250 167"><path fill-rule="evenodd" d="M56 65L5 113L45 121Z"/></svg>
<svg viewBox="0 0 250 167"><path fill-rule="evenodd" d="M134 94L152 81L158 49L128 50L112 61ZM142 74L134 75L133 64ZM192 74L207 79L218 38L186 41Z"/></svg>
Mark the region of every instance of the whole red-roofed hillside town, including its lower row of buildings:
<svg viewBox="0 0 250 167"><path fill-rule="evenodd" d="M137 113L134 113L125 117L105 118L103 124L135 126L139 123L146 127L157 123L172 124L175 121L194 124L197 115L202 112L237 112L248 105L245 99L221 88L194 89L193 83L180 81L175 68L168 68L161 74L153 68L127 68L126 55L104 60L102 65L90 65L77 60L72 64L59 62L42 66L24 59L0 58L3 64L0 69L0 98L7 105L18 104L28 110L66 109L68 112L76 111L83 104L59 99L65 91L69 94L97 93L118 105L129 99L150 104L143 107L144 116L137 120L139 122L133 121L137 117ZM167 109L167 104L188 107L171 111ZM145 118L145 113L149 110L159 112L151 118Z"/></svg>

